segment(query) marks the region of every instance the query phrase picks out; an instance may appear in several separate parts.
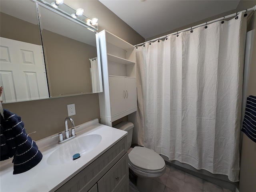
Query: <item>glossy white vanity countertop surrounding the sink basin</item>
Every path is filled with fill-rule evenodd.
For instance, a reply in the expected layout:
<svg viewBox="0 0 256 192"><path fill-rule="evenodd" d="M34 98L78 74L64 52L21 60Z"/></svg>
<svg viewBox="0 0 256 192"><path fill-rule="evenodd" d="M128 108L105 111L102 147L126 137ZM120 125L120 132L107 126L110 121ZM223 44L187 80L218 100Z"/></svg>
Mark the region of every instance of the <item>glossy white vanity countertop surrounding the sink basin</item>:
<svg viewBox="0 0 256 192"><path fill-rule="evenodd" d="M75 176L83 168L87 167L95 159L100 157L110 147L127 135L126 131L102 125L98 119L88 121L76 126L76 138L84 135L98 134L101 135L101 142L88 154L81 155L79 159L70 161L65 164L48 165L47 159L52 152L63 144L58 144L58 137L46 137L36 141L38 149L41 151L43 158L36 167L21 173L12 174L13 163L10 158L0 162L0 191L1 192L47 192L55 191L70 178Z"/></svg>

